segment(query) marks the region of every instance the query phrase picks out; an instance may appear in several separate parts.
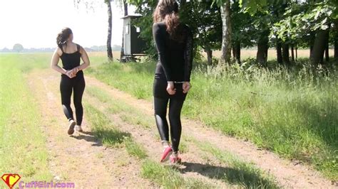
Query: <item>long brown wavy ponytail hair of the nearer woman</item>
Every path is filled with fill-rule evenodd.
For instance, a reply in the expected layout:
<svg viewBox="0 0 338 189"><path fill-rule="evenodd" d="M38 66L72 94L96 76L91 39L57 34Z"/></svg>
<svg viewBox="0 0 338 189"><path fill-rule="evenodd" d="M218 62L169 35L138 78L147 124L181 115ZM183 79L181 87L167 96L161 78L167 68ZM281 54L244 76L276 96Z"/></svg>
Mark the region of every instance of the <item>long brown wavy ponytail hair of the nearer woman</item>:
<svg viewBox="0 0 338 189"><path fill-rule="evenodd" d="M180 17L178 16L178 3L175 0L160 0L153 13L153 22L165 21L170 37L180 41Z"/></svg>

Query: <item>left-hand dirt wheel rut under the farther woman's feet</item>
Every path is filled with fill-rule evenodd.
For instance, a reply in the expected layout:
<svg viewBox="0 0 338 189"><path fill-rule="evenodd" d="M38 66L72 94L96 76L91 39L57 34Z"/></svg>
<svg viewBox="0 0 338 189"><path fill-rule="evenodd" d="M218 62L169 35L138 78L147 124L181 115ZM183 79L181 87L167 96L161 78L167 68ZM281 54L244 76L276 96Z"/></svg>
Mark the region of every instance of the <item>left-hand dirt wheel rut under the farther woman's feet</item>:
<svg viewBox="0 0 338 189"><path fill-rule="evenodd" d="M27 77L41 109L53 180L75 183L76 188L153 188L152 183L140 177L140 162L125 150L102 146L91 134L86 119L86 134L76 132L68 136L58 92L59 78L49 70L36 70Z"/></svg>

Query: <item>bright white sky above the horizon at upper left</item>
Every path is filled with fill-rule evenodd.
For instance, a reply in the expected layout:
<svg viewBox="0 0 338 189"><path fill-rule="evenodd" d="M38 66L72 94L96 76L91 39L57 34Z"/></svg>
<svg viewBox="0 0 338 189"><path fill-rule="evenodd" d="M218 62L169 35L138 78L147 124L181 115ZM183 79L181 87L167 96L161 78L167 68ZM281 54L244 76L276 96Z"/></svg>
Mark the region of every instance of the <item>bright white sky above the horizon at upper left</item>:
<svg viewBox="0 0 338 189"><path fill-rule="evenodd" d="M12 49L15 43L24 48L54 48L56 35L64 27L73 31L75 43L83 47L106 45L107 6L96 1L92 9L78 7L73 0L0 0L0 49ZM113 11L112 45L122 43L123 11L111 2ZM133 14L135 9L130 7Z"/></svg>

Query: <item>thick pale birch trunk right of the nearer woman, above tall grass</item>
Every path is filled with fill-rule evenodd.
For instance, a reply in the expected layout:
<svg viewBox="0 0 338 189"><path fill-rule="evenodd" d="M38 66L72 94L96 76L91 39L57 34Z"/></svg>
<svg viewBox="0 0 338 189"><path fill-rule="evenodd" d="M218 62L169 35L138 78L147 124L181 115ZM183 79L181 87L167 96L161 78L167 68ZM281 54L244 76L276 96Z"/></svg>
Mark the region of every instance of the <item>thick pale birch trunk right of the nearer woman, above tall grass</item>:
<svg viewBox="0 0 338 189"><path fill-rule="evenodd" d="M220 6L220 16L222 19L222 55L220 63L230 63L231 58L231 22L230 22L230 0L226 0Z"/></svg>

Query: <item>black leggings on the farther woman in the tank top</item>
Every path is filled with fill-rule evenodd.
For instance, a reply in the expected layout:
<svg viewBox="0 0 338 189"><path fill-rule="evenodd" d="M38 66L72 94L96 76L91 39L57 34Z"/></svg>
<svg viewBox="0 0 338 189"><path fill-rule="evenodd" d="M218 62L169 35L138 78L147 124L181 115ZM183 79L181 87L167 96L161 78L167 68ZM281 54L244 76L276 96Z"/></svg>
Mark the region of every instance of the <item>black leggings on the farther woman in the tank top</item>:
<svg viewBox="0 0 338 189"><path fill-rule="evenodd" d="M82 95L85 89L86 82L83 75L69 78L66 75L61 75L60 91L61 103L63 112L68 120L73 118L73 110L71 109L71 92L73 91L73 102L76 113L76 124L81 125L83 117Z"/></svg>

